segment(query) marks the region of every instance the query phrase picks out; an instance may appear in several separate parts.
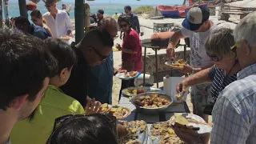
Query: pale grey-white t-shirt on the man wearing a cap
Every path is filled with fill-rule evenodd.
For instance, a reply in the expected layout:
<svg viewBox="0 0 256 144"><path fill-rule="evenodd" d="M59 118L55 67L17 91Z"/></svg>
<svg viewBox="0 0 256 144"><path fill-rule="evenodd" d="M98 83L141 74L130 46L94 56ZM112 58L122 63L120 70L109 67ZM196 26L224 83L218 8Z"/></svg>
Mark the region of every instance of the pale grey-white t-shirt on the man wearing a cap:
<svg viewBox="0 0 256 144"><path fill-rule="evenodd" d="M182 28L182 35L190 38L190 66L205 67L210 65L210 57L206 54L205 42L210 34L217 29L217 25L211 26L205 32L195 33L194 31Z"/></svg>

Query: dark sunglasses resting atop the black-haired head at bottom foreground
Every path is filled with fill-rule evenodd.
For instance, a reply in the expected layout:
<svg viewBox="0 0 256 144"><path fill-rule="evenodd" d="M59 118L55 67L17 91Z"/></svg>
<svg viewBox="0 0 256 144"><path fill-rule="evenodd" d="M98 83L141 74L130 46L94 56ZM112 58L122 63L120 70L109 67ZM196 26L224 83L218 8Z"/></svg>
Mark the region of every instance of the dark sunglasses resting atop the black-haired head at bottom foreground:
<svg viewBox="0 0 256 144"><path fill-rule="evenodd" d="M50 134L50 138L48 139L48 141L46 143L50 144L50 139L53 137L54 131L57 130L60 126L62 126L64 123L67 123L67 122L70 122L71 120L82 118L82 117L85 117L88 119L90 119L90 117L99 117L99 118L104 119L106 121L106 125L110 126L110 129L113 131L116 138L118 138L117 119L113 115L110 115L110 114L90 114L90 115L68 114L68 115L64 115L62 117L55 119L53 132L52 132L52 134Z"/></svg>

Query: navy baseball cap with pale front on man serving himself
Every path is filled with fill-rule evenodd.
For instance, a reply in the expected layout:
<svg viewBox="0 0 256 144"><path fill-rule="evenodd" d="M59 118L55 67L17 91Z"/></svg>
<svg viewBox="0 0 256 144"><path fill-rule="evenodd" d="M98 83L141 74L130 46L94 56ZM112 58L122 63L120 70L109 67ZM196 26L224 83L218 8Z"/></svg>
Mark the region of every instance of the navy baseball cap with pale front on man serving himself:
<svg viewBox="0 0 256 144"><path fill-rule="evenodd" d="M210 17L210 10L208 6L201 5L190 8L186 13L186 18L182 22L182 26L187 30L198 30L204 22Z"/></svg>

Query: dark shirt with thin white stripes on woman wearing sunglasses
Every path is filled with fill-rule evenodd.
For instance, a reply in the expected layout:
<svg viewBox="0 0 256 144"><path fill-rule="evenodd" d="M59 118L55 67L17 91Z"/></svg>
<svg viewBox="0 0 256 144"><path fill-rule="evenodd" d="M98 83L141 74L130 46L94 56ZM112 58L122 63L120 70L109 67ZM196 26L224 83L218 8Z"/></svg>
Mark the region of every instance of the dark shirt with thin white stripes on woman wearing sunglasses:
<svg viewBox="0 0 256 144"><path fill-rule="evenodd" d="M218 69L217 66L214 65L210 69L209 78L212 82L210 94L215 103L218 98L218 94L231 82L237 80L237 74L233 74L226 77L224 70Z"/></svg>

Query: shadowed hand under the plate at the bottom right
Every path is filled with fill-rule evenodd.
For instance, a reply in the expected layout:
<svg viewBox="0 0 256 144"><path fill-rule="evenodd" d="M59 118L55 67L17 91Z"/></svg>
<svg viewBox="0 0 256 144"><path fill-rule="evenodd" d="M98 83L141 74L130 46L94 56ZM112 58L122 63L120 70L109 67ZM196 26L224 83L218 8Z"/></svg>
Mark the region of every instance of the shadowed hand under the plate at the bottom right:
<svg viewBox="0 0 256 144"><path fill-rule="evenodd" d="M173 126L175 134L177 134L178 138L181 138L183 142L188 144L200 144L200 143L208 143L210 140L210 133L198 134L197 130L189 130L186 128L181 128L178 126Z"/></svg>

